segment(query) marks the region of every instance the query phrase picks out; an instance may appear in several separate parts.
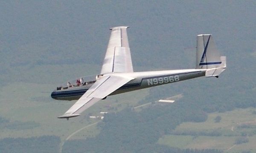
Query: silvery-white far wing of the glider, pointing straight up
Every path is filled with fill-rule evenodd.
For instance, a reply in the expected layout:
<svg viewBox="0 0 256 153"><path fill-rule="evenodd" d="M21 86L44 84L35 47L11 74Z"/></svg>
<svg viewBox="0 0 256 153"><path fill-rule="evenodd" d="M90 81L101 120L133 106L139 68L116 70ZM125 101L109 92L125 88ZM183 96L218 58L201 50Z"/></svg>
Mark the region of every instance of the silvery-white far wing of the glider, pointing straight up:
<svg viewBox="0 0 256 153"><path fill-rule="evenodd" d="M101 74L133 72L127 28L128 26L111 28L111 35Z"/></svg>

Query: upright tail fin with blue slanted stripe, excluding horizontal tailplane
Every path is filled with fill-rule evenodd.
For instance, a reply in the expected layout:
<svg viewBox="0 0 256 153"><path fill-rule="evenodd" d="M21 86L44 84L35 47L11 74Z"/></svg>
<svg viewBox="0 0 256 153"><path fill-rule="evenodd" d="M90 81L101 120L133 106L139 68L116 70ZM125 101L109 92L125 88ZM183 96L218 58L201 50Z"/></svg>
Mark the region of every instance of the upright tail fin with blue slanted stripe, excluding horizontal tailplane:
<svg viewBox="0 0 256 153"><path fill-rule="evenodd" d="M216 48L211 34L197 36L196 68L218 68L221 66L221 56Z"/></svg>

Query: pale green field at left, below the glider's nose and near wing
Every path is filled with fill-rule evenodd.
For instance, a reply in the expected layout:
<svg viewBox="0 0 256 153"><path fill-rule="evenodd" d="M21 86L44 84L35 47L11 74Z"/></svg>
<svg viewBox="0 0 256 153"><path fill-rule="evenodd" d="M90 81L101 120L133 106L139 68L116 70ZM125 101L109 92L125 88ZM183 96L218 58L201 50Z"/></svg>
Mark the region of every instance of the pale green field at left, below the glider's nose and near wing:
<svg viewBox="0 0 256 153"><path fill-rule="evenodd" d="M52 84L13 82L1 88L0 116L8 119L10 121L9 126L12 128L1 128L0 139L55 135L60 136L63 140L74 131L99 121L99 119L89 119L89 114L102 116L100 111L121 111L128 106L137 105L137 102L144 99L148 94L146 89L141 90L140 93L130 92L109 96L84 111L81 116L67 121L57 117L67 111L76 100L58 101L51 99L50 94L55 86ZM33 122L37 126L33 126ZM28 123L29 126L24 125L25 123ZM23 129L13 127L15 125L22 125ZM26 129L25 127L33 128ZM93 125L75 134L72 139L86 139L87 137L96 136L99 132L97 126Z"/></svg>

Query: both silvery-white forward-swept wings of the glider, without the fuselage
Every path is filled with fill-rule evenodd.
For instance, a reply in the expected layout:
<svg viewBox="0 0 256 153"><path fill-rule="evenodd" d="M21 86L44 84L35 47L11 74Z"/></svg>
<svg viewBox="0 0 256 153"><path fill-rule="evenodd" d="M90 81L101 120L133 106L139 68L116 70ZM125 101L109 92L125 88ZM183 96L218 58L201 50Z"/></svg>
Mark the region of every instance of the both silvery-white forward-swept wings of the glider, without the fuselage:
<svg viewBox="0 0 256 153"><path fill-rule="evenodd" d="M68 119L70 117L79 116L81 112L91 105L105 98L133 79L120 76L120 74L117 75L122 72L133 72L127 28L128 26L111 28L108 48L101 70L103 77L97 79L88 91L86 91L64 115L58 118Z"/></svg>

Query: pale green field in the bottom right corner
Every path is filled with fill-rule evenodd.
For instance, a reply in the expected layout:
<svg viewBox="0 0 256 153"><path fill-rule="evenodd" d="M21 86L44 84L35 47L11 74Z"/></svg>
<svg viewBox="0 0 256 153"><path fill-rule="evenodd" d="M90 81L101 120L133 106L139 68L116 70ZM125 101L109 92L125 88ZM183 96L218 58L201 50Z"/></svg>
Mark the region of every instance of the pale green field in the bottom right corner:
<svg viewBox="0 0 256 153"><path fill-rule="evenodd" d="M256 114L253 111L255 108L209 113L206 122L184 122L173 134L160 138L158 143L182 149L221 149L227 153L244 150L256 152ZM221 116L220 122L215 122L216 116ZM221 133L221 136L204 136L212 131ZM177 135L180 133L183 134ZM235 144L240 137L246 137L249 142Z"/></svg>

